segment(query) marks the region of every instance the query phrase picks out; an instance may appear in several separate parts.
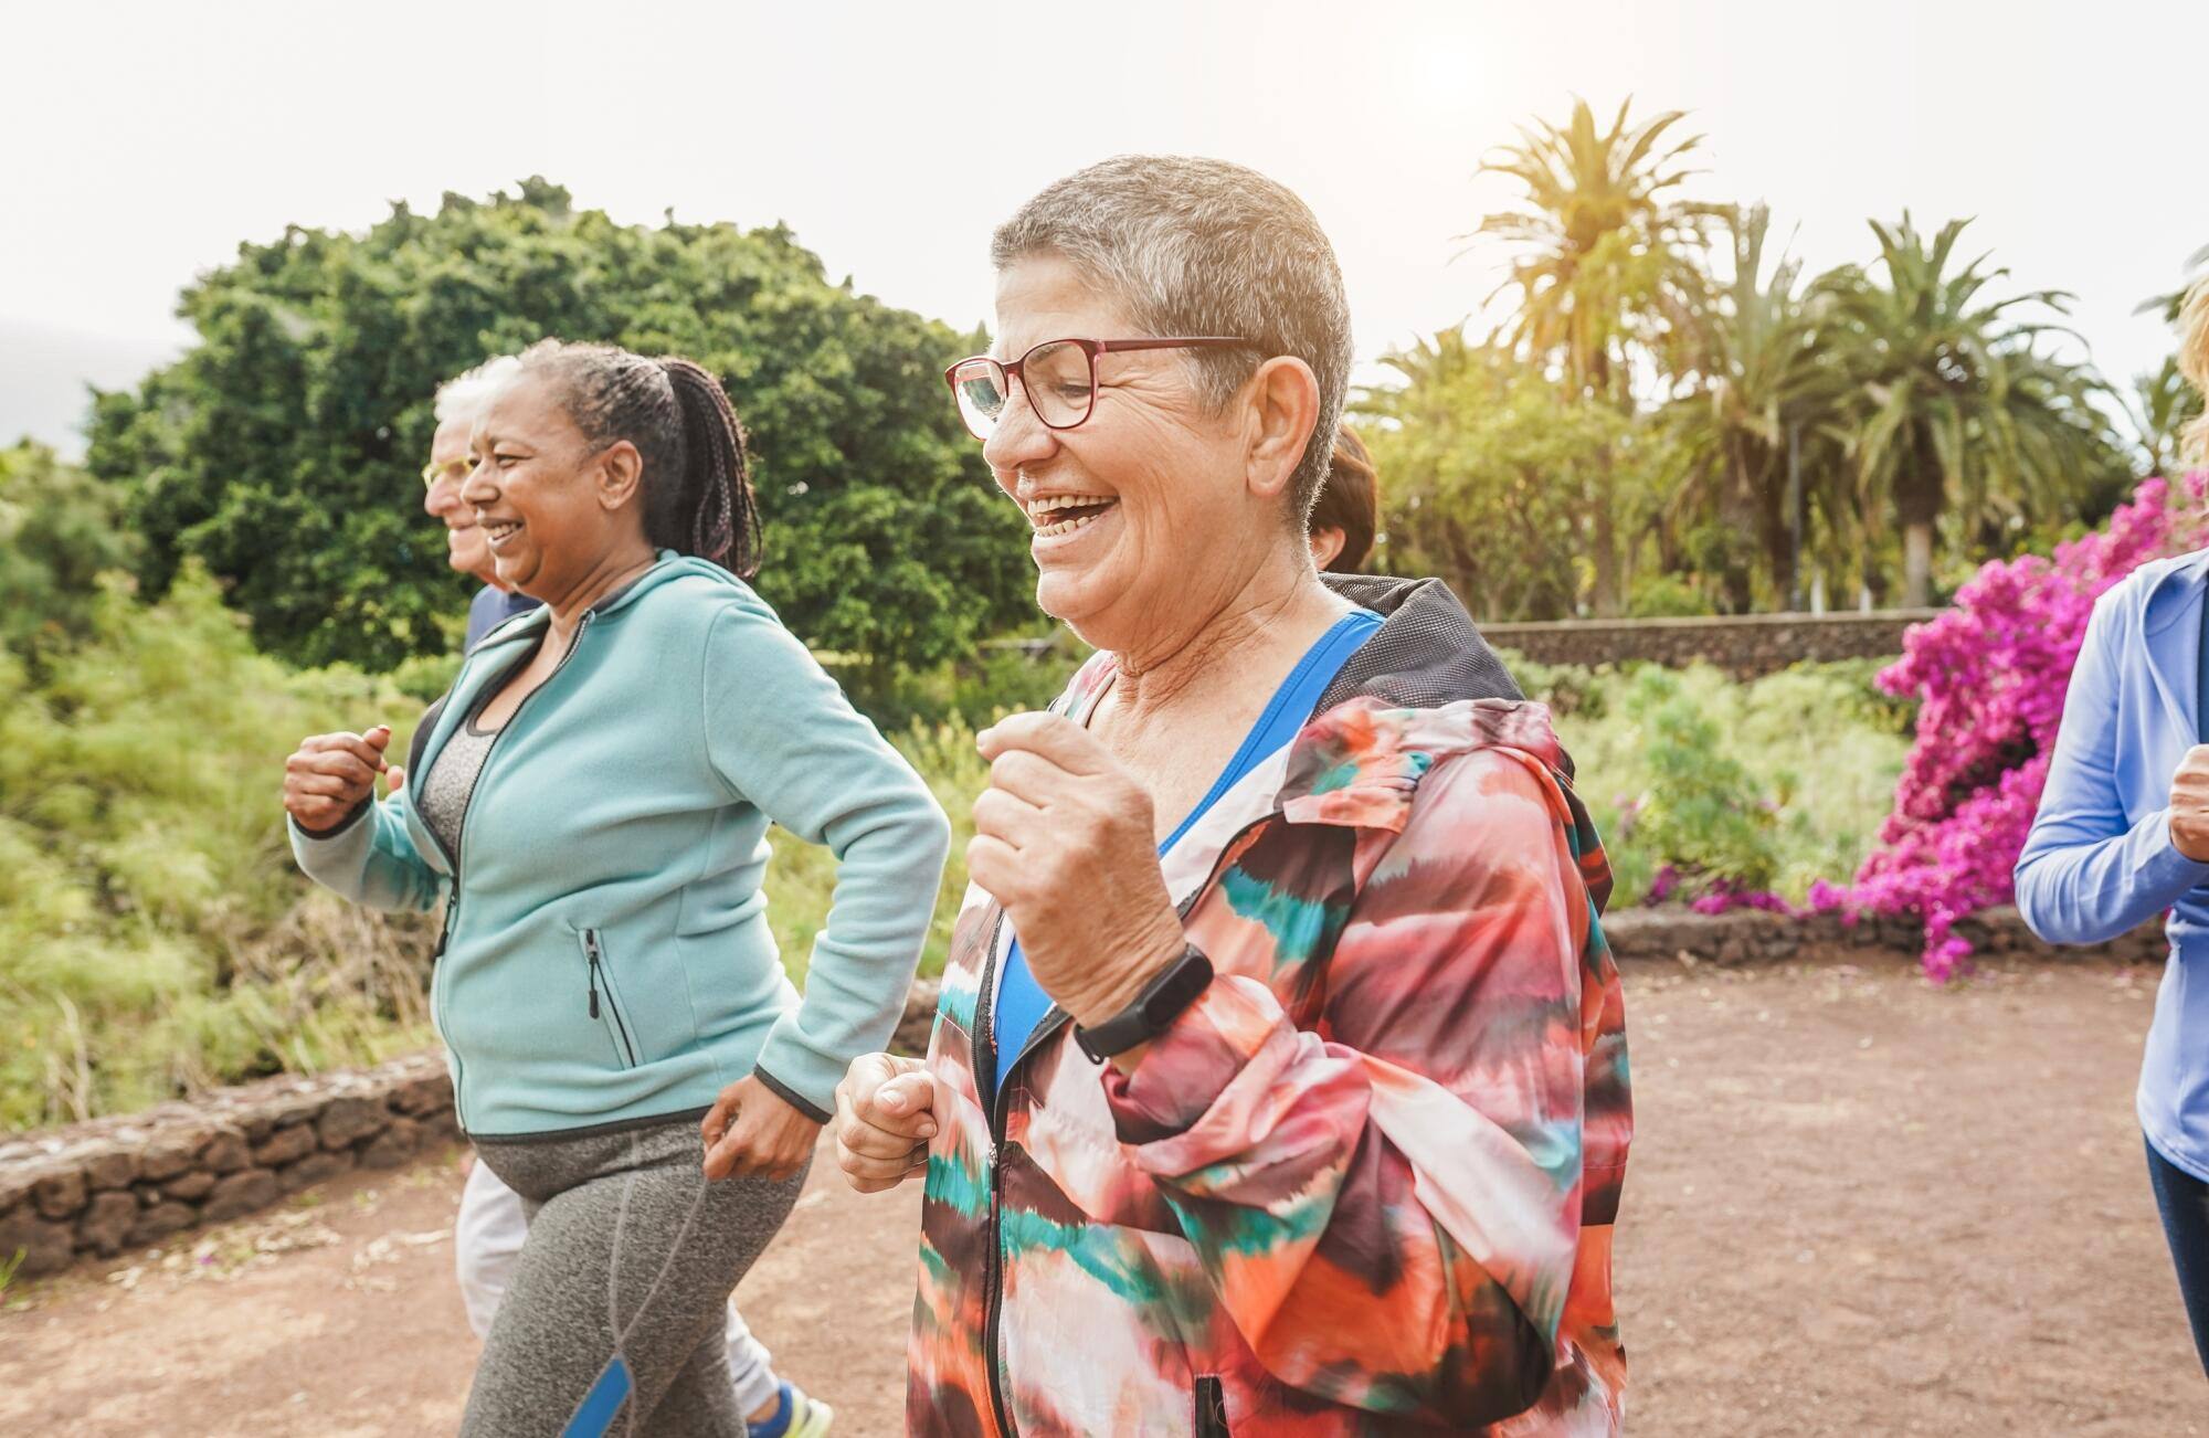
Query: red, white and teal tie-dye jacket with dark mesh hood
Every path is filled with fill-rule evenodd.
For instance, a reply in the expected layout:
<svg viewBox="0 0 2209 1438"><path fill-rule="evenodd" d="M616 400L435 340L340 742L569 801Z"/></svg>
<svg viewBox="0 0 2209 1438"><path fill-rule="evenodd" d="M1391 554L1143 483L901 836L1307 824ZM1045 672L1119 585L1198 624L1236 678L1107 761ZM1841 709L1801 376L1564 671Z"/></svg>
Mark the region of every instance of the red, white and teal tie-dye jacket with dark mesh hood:
<svg viewBox="0 0 2209 1438"><path fill-rule="evenodd" d="M1051 1009L990 1093L1010 934L970 890L928 1051L908 1431L1619 1429L1608 868L1540 705L1383 698L1484 687L1454 645L1515 694L1447 590L1359 583L1394 607L1361 654L1409 665L1330 689L1166 855L1219 976L1133 1074Z"/></svg>

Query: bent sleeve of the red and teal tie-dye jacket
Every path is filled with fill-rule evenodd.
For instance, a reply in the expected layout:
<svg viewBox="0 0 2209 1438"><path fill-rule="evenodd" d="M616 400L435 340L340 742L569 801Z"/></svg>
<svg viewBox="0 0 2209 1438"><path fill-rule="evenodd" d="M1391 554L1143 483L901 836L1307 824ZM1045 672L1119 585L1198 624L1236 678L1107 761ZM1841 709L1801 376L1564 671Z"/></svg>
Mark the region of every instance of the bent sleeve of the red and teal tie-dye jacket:
<svg viewBox="0 0 2209 1438"><path fill-rule="evenodd" d="M1445 760L1350 908L1317 1032L1222 976L1107 1069L1120 1140L1297 1389L1462 1431L1551 1378L1586 1180L1568 822L1533 760Z"/></svg>

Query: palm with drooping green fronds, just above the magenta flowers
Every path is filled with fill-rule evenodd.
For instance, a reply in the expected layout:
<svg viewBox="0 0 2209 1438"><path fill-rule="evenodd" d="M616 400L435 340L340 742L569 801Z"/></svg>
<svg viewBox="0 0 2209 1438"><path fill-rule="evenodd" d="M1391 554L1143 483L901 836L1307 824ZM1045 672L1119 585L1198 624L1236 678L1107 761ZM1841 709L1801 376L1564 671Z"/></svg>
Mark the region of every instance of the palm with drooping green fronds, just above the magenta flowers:
<svg viewBox="0 0 2209 1438"><path fill-rule="evenodd" d="M2092 404L2101 382L2039 351L2041 336L2070 331L2019 314L2063 316L2070 296L1988 298L2008 269L1990 269L1986 256L1953 265L1968 223L1948 221L1926 243L1909 214L1900 225L1871 221L1884 283L1847 265L1814 285L1831 307L1847 382L1856 504L1873 535L1889 512L1900 521L1913 607L1933 594L1944 515L1964 526L2057 515L2110 459L2107 420Z"/></svg>

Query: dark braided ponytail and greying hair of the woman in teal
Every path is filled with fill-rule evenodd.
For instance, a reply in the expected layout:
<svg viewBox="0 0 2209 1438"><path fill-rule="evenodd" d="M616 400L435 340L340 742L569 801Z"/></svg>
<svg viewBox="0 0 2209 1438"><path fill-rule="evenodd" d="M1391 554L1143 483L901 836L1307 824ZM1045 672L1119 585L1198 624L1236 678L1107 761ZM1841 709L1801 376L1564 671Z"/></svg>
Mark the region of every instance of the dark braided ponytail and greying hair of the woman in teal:
<svg viewBox="0 0 2209 1438"><path fill-rule="evenodd" d="M711 559L738 579L760 572L744 424L709 369L680 356L541 340L521 351L521 371L559 387L561 409L590 444L636 446L647 543Z"/></svg>

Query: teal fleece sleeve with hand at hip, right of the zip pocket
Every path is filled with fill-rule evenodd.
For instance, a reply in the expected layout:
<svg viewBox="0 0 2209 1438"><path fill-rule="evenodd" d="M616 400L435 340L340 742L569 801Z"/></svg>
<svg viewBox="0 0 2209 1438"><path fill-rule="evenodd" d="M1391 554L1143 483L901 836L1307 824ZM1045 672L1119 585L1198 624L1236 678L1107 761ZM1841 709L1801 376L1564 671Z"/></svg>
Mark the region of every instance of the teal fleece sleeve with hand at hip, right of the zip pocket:
<svg viewBox="0 0 2209 1438"><path fill-rule="evenodd" d="M921 775L758 599L722 610L709 632L705 736L733 795L837 859L804 998L769 1032L755 1069L826 1122L844 1069L886 1045L903 1014L950 822Z"/></svg>

